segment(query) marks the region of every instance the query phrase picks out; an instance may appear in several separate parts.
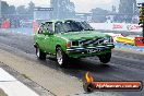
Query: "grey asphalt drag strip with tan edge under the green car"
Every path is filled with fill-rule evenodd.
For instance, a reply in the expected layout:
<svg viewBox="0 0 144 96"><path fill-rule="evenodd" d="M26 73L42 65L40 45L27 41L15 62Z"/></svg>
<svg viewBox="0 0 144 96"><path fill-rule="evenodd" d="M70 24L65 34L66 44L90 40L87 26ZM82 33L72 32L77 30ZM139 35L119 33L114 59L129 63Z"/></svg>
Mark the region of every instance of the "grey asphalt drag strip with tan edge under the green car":
<svg viewBox="0 0 144 96"><path fill-rule="evenodd" d="M97 81L139 80L144 82L143 56L142 51L116 49L112 51L111 61L107 64L100 63L97 57L89 57L72 60L68 69L62 69L52 57L48 56L46 61L37 60L33 36L0 33L0 61L44 87L44 91L58 96L143 96L143 91L85 94L82 82L87 71ZM33 86L33 83L25 83L29 86L31 84Z"/></svg>

